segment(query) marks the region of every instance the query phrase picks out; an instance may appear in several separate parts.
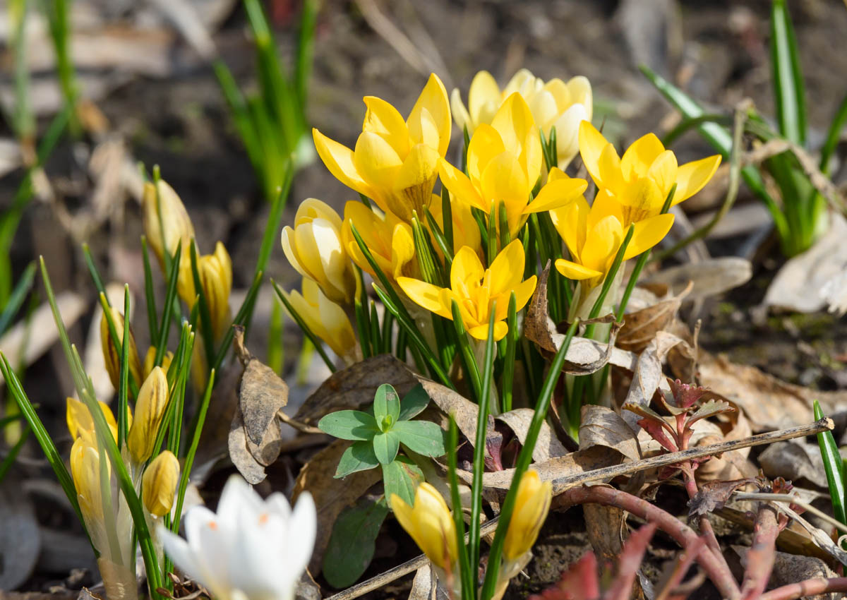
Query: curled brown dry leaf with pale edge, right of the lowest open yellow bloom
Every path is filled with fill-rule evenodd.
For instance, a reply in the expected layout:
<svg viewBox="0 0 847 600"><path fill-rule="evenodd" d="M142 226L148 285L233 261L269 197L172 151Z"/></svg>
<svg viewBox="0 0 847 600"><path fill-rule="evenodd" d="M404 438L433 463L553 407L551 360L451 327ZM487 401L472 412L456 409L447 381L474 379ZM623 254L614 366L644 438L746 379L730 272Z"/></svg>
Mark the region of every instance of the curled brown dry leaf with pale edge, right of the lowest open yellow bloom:
<svg viewBox="0 0 847 600"><path fill-rule="evenodd" d="M542 353L554 354L562 347L565 335L556 329L556 324L547 314L547 277L550 275L550 264L541 272L535 293L529 301L527 316L523 321L523 335L530 342L535 342ZM617 331L620 324L615 322L613 315L601 319L592 319L593 323L611 323L609 342L596 342L584 337L574 337L567 348L564 373L570 375L588 375L612 363L624 369L632 370L635 356L626 350L615 347Z"/></svg>

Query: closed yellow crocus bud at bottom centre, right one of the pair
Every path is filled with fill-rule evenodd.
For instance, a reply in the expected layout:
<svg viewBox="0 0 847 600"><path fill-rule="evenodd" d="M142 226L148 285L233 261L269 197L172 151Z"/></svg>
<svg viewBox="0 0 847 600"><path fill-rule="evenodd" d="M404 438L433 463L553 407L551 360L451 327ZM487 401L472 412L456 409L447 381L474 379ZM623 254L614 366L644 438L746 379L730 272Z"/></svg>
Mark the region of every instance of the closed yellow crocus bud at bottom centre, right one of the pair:
<svg viewBox="0 0 847 600"><path fill-rule="evenodd" d="M550 481L542 482L538 473L532 470L523 474L506 540L503 542L503 556L507 560L517 560L532 548L547 518L552 497L553 486Z"/></svg>

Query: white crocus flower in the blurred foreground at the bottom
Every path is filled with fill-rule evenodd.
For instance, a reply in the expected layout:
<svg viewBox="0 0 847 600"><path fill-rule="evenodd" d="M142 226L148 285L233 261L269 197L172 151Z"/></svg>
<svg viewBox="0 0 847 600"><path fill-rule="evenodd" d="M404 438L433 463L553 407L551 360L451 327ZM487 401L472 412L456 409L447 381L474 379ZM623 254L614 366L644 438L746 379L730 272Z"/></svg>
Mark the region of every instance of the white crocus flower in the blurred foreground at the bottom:
<svg viewBox="0 0 847 600"><path fill-rule="evenodd" d="M293 511L281 493L263 500L239 475L214 514L191 508L183 540L163 526L165 553L216 600L291 600L315 541L318 516L308 492Z"/></svg>

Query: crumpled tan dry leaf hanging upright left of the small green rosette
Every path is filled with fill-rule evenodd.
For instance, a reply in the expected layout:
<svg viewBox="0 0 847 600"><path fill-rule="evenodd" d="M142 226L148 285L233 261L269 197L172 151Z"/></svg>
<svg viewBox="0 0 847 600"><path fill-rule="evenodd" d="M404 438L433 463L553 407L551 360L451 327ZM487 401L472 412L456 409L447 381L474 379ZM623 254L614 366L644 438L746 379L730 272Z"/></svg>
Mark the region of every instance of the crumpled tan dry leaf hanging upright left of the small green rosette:
<svg viewBox="0 0 847 600"><path fill-rule="evenodd" d="M280 435L276 414L288 403L288 385L274 369L262 364L244 346L244 328L235 327L235 353L244 365L238 389L241 416L247 438L255 445L267 446L264 438L271 430ZM275 458L275 457L274 457ZM269 463L266 463L269 464Z"/></svg>

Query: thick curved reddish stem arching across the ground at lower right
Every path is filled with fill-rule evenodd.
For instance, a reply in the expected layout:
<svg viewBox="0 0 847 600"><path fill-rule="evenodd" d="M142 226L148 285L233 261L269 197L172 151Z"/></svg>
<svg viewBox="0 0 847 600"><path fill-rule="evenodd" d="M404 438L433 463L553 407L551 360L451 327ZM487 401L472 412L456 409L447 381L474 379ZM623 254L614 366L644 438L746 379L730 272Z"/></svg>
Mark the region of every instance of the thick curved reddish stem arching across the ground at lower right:
<svg viewBox="0 0 847 600"><path fill-rule="evenodd" d="M565 508L575 504L602 504L622 508L650 523L656 523L659 529L673 537L684 548L696 543L699 539L694 530L674 517L673 514L637 496L621 492L612 487L574 487L562 492L555 498L554 503L556 503L557 508ZM739 586L725 560L718 560L711 552L701 552L697 556L697 562L706 571L706 575L709 576L711 582L715 584L721 597L728 600L739 600L741 597Z"/></svg>

